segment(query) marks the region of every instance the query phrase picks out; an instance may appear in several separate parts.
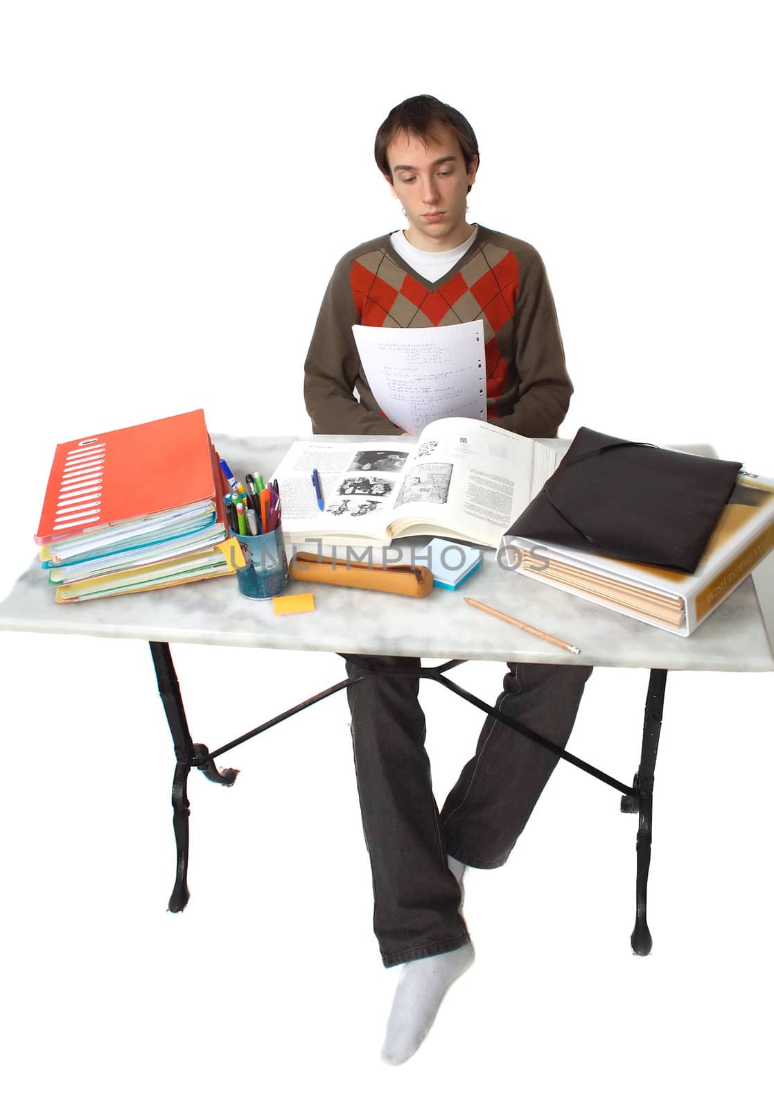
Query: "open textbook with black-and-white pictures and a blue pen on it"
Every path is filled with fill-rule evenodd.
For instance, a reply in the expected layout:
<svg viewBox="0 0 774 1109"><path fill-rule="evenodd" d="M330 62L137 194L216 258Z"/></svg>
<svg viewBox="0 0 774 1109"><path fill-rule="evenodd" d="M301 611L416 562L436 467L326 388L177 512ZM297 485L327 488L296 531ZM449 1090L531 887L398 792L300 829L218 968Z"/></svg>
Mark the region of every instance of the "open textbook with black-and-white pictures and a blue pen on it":
<svg viewBox="0 0 774 1109"><path fill-rule="evenodd" d="M386 547L403 536L432 535L497 547L558 462L543 444L450 417L428 424L416 442L397 436L294 442L274 477L286 542Z"/></svg>

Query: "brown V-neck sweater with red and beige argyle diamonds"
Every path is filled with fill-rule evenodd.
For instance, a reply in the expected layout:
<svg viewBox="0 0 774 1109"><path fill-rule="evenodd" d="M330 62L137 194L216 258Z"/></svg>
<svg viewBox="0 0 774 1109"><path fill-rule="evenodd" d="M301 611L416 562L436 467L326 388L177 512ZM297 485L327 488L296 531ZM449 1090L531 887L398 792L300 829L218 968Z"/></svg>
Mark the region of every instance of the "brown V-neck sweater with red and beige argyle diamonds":
<svg viewBox="0 0 774 1109"><path fill-rule="evenodd" d="M527 436L556 436L572 385L553 297L534 247L479 225L460 261L430 283L389 235L349 251L334 269L305 365L304 398L319 435L400 435L363 373L353 324L444 327L483 322L487 418Z"/></svg>

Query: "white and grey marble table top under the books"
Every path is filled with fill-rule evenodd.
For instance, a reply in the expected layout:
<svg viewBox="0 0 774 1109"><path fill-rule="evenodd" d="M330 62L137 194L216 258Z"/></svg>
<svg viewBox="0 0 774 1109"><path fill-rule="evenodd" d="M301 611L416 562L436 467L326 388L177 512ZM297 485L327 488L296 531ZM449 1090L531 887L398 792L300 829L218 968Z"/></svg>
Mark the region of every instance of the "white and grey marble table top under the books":
<svg viewBox="0 0 774 1109"><path fill-rule="evenodd" d="M293 441L225 435L213 435L213 440L235 472L257 470L266 475ZM558 445L557 440L542 441ZM763 564L766 581L774 577L772 557L767 563ZM502 569L495 551L485 552L483 566L459 590L434 589L424 599L299 581L292 583L291 591L314 592L314 612L275 615L271 602L243 598L232 577L57 604L53 588L35 559L0 603L0 631L435 659L774 670L774 653L751 578L688 639ZM466 604L464 596L558 635L579 647L581 653L570 654L480 612Z"/></svg>

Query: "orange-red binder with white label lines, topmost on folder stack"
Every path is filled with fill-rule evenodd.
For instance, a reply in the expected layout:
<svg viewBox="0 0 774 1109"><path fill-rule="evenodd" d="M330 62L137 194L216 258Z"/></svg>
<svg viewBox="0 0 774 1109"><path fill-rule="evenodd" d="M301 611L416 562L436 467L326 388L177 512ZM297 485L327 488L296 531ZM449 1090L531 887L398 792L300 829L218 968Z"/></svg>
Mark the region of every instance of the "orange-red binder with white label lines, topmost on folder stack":
<svg viewBox="0 0 774 1109"><path fill-rule="evenodd" d="M206 500L222 520L220 482L201 408L61 442L34 539L49 543Z"/></svg>

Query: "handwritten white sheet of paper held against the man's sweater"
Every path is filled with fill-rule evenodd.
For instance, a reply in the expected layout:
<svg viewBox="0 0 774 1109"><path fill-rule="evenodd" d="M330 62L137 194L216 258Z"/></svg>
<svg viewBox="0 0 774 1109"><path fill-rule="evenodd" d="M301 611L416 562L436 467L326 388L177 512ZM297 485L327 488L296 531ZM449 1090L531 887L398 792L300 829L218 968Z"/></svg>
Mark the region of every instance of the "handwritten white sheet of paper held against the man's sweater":
<svg viewBox="0 0 774 1109"><path fill-rule="evenodd" d="M483 324L364 327L353 334L385 416L410 435L445 416L487 418Z"/></svg>

